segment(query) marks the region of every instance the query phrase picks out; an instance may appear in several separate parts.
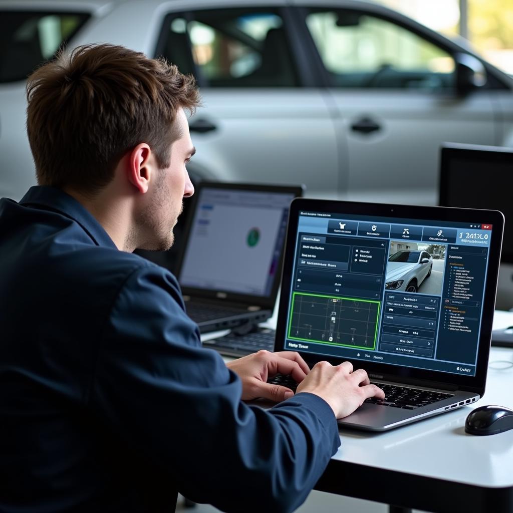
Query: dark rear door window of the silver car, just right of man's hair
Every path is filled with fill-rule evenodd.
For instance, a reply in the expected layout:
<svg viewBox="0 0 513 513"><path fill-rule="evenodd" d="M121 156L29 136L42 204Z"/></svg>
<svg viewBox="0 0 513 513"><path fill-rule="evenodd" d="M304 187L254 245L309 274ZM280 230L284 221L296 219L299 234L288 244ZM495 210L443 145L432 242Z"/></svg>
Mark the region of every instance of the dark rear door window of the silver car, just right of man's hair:
<svg viewBox="0 0 513 513"><path fill-rule="evenodd" d="M202 87L296 87L278 10L218 9L168 18L157 52Z"/></svg>

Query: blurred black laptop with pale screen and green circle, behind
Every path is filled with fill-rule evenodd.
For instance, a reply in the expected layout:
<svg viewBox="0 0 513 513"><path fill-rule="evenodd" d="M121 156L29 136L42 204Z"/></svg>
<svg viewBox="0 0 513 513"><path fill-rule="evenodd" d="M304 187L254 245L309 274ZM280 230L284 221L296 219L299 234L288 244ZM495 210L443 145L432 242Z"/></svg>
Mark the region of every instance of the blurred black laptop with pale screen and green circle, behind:
<svg viewBox="0 0 513 513"><path fill-rule="evenodd" d="M177 278L202 332L257 324L272 314L290 202L301 186L200 182Z"/></svg>

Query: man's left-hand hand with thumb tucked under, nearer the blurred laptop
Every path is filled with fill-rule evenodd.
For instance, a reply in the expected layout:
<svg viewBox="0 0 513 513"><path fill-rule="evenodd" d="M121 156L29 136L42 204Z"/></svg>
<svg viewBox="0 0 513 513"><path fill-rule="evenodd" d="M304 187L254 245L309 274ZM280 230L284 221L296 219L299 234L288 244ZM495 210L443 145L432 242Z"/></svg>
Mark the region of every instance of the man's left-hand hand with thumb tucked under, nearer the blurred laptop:
<svg viewBox="0 0 513 513"><path fill-rule="evenodd" d="M310 370L297 352L271 353L264 349L228 362L226 366L241 378L244 401L260 397L275 402L284 401L292 397L294 392L290 388L267 383L267 379L281 372L290 374L295 381L301 383Z"/></svg>

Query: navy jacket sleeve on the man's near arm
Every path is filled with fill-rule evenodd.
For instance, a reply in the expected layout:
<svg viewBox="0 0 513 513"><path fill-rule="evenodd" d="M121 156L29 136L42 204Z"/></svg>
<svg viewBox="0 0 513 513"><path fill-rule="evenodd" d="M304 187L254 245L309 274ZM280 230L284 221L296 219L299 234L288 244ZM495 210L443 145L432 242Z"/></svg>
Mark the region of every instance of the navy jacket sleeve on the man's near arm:
<svg viewBox="0 0 513 513"><path fill-rule="evenodd" d="M90 405L196 502L292 511L340 445L332 410L313 394L268 410L241 402L239 378L201 347L162 268L128 277L97 344Z"/></svg>

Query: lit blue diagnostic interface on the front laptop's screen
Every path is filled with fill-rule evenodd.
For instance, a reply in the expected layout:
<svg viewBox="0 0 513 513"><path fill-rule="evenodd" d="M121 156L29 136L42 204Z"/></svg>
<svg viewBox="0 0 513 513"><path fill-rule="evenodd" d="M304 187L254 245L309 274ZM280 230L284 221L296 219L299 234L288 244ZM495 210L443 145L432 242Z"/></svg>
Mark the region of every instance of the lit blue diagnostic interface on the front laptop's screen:
<svg viewBox="0 0 513 513"><path fill-rule="evenodd" d="M285 348L475 376L491 225L301 212Z"/></svg>

